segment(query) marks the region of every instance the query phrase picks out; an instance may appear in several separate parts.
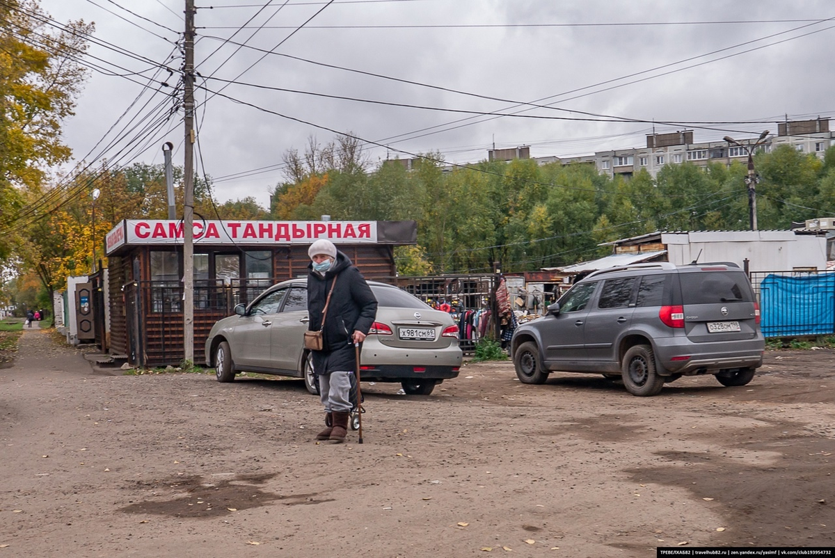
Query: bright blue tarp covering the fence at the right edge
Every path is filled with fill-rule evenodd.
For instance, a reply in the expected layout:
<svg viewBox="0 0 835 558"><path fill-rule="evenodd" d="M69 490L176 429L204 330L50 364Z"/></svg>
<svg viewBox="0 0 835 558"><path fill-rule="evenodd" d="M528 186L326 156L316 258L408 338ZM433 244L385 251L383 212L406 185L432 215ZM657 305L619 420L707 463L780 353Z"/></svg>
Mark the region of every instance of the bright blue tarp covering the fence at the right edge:
<svg viewBox="0 0 835 558"><path fill-rule="evenodd" d="M835 333L835 273L770 273L759 289L754 284L760 294L760 327L765 337Z"/></svg>

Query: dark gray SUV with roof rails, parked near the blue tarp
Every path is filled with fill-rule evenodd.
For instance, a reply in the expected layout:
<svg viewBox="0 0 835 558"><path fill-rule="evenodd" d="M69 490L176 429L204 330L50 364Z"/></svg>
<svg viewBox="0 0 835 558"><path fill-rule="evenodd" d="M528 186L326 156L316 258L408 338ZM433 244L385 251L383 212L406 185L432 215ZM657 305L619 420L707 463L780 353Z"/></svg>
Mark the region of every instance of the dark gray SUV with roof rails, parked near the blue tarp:
<svg viewBox="0 0 835 558"><path fill-rule="evenodd" d="M726 262L595 271L546 316L517 327L510 345L523 383L555 371L602 373L641 396L696 374L744 386L764 350L751 283Z"/></svg>

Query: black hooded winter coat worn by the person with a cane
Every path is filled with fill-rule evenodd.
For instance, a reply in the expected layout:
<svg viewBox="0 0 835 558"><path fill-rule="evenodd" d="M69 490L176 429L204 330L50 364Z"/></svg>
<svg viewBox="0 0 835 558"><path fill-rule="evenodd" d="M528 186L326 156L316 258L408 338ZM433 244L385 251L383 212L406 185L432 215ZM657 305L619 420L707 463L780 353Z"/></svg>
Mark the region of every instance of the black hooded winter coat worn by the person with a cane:
<svg viewBox="0 0 835 558"><path fill-rule="evenodd" d="M321 329L321 311L325 307L334 277L337 277L322 331L324 348L312 352L313 371L327 374L353 370L357 358L352 335L355 330L367 334L371 329L374 317L377 316L377 298L362 273L341 251L337 251L337 259L324 277L313 271L312 263L308 269L307 313L310 322L307 328L314 332Z"/></svg>

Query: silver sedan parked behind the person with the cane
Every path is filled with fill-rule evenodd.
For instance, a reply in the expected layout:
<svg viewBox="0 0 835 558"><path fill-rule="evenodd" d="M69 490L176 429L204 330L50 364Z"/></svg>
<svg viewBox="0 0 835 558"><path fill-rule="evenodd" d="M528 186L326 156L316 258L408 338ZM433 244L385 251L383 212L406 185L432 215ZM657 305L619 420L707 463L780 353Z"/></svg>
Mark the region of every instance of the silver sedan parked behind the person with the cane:
<svg viewBox="0 0 835 558"><path fill-rule="evenodd" d="M362 382L399 382L407 394L428 395L438 383L456 378L462 353L453 317L397 287L368 284L378 306L362 343ZM307 322L306 280L278 283L248 307L237 305L235 316L215 323L205 343L205 362L215 367L219 382L231 382L244 371L279 374L305 378L308 391L318 393L302 342Z"/></svg>

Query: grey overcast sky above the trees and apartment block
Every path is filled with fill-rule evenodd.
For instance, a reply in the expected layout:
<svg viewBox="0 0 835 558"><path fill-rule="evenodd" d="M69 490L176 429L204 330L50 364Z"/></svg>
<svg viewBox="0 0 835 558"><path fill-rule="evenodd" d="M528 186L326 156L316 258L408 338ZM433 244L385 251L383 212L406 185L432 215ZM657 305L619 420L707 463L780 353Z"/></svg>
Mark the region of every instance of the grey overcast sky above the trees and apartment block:
<svg viewBox="0 0 835 558"><path fill-rule="evenodd" d="M350 132L374 164L465 163L493 146L640 147L653 129L756 137L835 113L831 0L195 1L196 171L220 202L267 207L282 155L310 136ZM99 69L64 127L77 160L159 164L170 141L182 165L182 111L167 119L160 85L178 76L159 67L182 63L185 0L40 2L96 24Z"/></svg>

